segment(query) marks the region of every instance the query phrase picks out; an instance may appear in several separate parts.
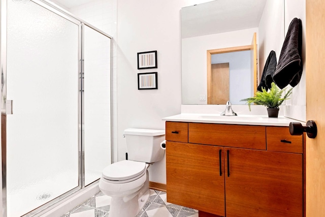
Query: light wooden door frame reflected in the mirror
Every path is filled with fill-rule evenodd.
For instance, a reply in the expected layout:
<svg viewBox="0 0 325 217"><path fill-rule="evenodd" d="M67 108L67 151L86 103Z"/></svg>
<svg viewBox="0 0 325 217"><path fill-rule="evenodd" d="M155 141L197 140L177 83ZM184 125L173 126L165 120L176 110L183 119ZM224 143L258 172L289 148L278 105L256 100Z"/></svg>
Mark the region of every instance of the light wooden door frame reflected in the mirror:
<svg viewBox="0 0 325 217"><path fill-rule="evenodd" d="M230 53L236 51L245 51L253 49L251 45L239 46L239 47L228 47L228 48L220 48L220 49L213 49L207 50L207 100L208 105L211 104L211 55L212 54L219 54L219 53ZM256 75L254 75L256 76ZM254 79L254 86L256 79Z"/></svg>

